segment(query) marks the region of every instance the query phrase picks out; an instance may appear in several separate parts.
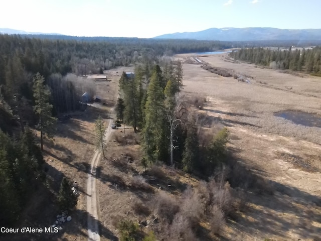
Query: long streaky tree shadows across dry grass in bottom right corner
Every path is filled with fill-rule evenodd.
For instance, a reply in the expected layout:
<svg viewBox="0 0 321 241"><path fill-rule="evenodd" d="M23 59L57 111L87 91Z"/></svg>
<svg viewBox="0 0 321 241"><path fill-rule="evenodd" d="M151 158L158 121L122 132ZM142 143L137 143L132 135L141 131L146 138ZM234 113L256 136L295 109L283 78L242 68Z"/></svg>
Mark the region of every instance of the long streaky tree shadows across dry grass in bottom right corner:
<svg viewBox="0 0 321 241"><path fill-rule="evenodd" d="M321 197L263 178L264 171L246 168L241 159L230 161L228 166L227 180L231 187L244 190L248 203L245 215L233 215L237 222L228 220L229 226L249 235L259 231L267 236L287 238L285 234L292 232L301 238L319 240L321 227L314 223L321 222Z"/></svg>

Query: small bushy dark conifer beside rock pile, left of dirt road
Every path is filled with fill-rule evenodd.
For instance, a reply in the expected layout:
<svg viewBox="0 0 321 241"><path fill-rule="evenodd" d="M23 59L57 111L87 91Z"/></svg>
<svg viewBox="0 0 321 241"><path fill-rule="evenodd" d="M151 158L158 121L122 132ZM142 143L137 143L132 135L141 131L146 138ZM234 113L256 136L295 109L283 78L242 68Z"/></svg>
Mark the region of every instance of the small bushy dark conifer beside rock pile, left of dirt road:
<svg viewBox="0 0 321 241"><path fill-rule="evenodd" d="M71 188L70 180L63 177L58 194L58 205L61 210L70 210L77 205L77 197L73 194Z"/></svg>

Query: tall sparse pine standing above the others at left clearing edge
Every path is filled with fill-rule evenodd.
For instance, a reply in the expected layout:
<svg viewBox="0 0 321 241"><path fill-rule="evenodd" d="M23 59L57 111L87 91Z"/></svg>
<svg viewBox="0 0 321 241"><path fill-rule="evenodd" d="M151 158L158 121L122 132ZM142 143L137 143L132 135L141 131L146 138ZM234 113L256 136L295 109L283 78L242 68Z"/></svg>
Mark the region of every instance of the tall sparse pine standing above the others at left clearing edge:
<svg viewBox="0 0 321 241"><path fill-rule="evenodd" d="M34 78L34 98L35 98L35 112L39 117L39 122L36 127L40 130L41 150L43 151L43 136L47 135L49 138L53 136L54 125L56 118L52 117L52 104L49 103L51 96L48 85L44 85L45 79L39 73Z"/></svg>

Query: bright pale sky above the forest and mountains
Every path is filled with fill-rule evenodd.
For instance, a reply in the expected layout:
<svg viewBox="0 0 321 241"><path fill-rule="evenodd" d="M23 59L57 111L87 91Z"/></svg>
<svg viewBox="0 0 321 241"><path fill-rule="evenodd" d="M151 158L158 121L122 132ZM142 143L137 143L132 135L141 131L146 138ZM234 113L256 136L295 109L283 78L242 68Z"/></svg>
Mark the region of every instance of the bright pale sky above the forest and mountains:
<svg viewBox="0 0 321 241"><path fill-rule="evenodd" d="M209 28L321 29L320 0L0 0L0 28L152 38Z"/></svg>

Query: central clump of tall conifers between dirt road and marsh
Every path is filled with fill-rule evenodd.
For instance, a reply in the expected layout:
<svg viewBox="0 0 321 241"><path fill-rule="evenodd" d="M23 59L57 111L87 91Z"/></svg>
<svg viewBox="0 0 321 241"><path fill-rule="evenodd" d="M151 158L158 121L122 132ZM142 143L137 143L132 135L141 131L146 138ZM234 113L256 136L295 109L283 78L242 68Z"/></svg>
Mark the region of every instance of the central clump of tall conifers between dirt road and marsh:
<svg viewBox="0 0 321 241"><path fill-rule="evenodd" d="M134 73L134 77L122 73L116 111L118 119L141 134L143 165L164 162L186 172L212 175L224 161L228 131L204 139L204 116L180 93L182 63L137 65Z"/></svg>

